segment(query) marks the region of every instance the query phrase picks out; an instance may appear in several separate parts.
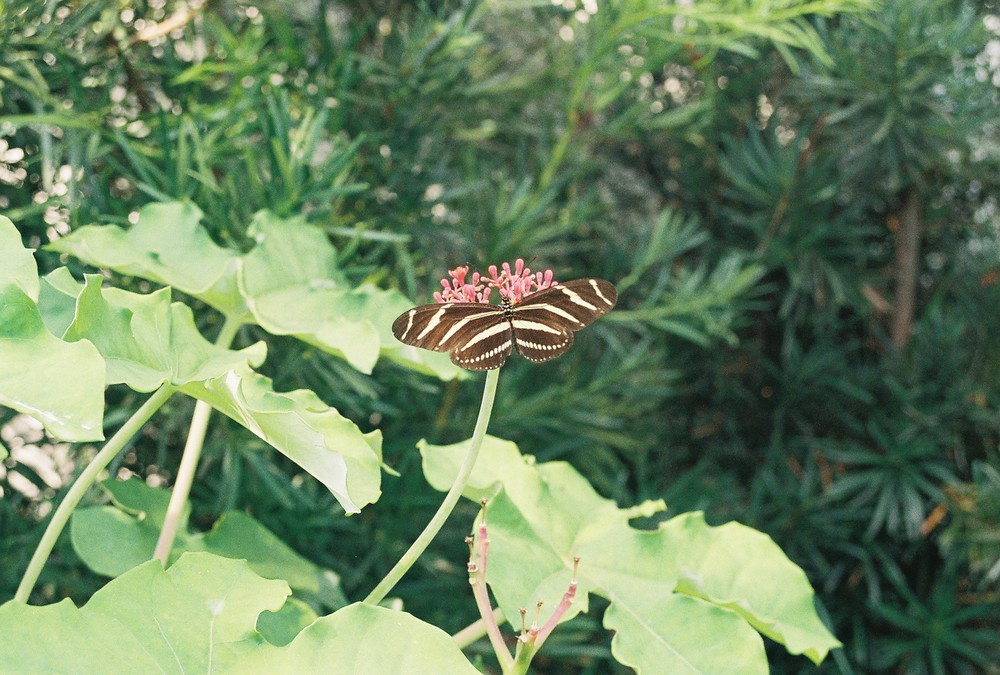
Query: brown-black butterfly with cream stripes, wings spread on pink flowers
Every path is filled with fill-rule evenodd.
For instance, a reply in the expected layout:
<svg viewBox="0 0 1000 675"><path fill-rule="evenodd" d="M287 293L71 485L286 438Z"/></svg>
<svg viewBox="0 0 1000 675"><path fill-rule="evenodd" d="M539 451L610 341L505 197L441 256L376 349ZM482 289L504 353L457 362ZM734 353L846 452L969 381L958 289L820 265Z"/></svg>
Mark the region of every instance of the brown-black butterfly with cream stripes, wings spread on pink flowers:
<svg viewBox="0 0 1000 675"><path fill-rule="evenodd" d="M436 352L451 352L457 366L469 370L499 368L516 349L542 363L562 356L573 332L615 306L618 291L603 279L575 279L550 286L512 305L446 302L403 312L392 324L400 342Z"/></svg>

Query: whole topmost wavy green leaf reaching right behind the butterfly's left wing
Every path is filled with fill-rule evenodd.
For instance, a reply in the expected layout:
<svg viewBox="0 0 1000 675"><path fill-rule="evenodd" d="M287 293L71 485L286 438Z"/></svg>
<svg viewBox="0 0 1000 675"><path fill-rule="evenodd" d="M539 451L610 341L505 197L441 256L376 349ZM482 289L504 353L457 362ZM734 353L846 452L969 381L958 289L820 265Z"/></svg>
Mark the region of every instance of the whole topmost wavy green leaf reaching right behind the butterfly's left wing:
<svg viewBox="0 0 1000 675"><path fill-rule="evenodd" d="M275 335L293 335L362 372L370 373L382 354L442 379L462 376L447 355L407 347L392 336L393 319L412 303L397 291L353 288L322 230L301 218L261 212L250 227L257 246L241 255L217 246L201 217L190 203L150 204L128 230L82 227L49 248L173 286L231 321L255 321Z"/></svg>

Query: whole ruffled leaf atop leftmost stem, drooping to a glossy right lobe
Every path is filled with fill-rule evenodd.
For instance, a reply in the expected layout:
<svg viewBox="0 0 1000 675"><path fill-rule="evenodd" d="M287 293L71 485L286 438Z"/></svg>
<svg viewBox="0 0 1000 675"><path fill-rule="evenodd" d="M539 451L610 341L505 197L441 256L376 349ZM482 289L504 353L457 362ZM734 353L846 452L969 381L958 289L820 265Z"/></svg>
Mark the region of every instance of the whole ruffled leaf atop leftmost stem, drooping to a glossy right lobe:
<svg viewBox="0 0 1000 675"><path fill-rule="evenodd" d="M60 269L45 282L53 295L75 298L66 335L97 346L110 383L152 391L167 382L204 400L315 476L348 513L378 498L378 432L363 434L310 391L275 392L249 368L264 360L263 343L234 351L208 342L169 288L141 295L102 288L101 279L88 275L81 286Z"/></svg>

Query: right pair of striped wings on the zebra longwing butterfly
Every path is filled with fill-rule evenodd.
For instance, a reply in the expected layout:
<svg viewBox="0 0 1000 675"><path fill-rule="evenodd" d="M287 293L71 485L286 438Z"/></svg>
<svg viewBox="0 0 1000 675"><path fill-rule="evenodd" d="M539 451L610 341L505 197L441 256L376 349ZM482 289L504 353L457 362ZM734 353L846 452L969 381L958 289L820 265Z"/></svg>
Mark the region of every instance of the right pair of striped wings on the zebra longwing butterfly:
<svg viewBox="0 0 1000 675"><path fill-rule="evenodd" d="M530 361L562 356L573 332L611 311L618 291L603 279L574 279L539 291L513 308L514 347Z"/></svg>

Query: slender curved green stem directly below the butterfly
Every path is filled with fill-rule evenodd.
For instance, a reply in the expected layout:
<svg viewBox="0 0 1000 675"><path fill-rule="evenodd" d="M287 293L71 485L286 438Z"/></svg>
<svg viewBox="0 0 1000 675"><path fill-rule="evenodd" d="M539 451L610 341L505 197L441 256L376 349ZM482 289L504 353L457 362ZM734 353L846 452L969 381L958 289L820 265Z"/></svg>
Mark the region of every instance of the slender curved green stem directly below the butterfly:
<svg viewBox="0 0 1000 675"><path fill-rule="evenodd" d="M462 491L469 481L472 468L476 465L479 450L483 447L483 438L486 437L486 427L489 426L490 414L493 412L493 399L496 397L497 380L499 377L499 368L486 373L486 384L483 387L483 402L479 406L479 418L476 420L476 428L472 432L472 438L469 440L469 449L465 453L462 466L458 469L458 475L455 476L455 482L452 483L451 489L445 495L444 501L441 502L441 506L438 507L434 517L427 523L427 527L424 528L420 536L410 545L410 548L399 559L399 562L389 570L385 578L368 594L368 597L365 598L366 604L377 605L389 594L389 591L399 583L403 575L413 567L413 564L427 549L427 546L437 536L437 533L444 526L445 521L448 520L448 516L455 509L455 505L458 503L459 498L462 496Z"/></svg>

